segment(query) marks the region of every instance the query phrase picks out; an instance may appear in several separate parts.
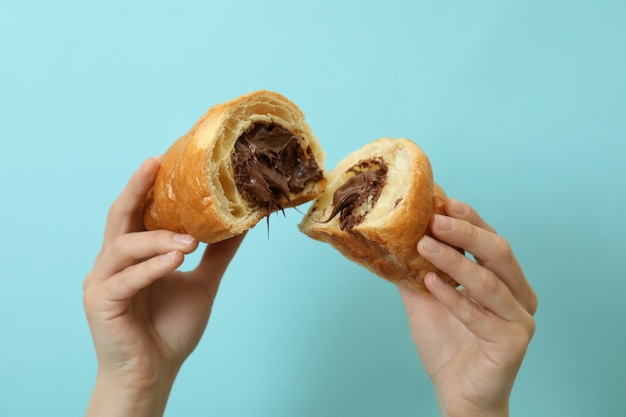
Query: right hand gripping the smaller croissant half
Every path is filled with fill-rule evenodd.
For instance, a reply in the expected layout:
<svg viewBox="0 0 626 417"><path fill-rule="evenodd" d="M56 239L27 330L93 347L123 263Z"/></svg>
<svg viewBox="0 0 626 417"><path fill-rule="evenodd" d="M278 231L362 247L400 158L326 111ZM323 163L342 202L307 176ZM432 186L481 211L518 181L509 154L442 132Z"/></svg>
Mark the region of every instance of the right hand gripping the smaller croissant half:
<svg viewBox="0 0 626 417"><path fill-rule="evenodd" d="M508 242L471 207L448 199L445 211L431 221L437 240L426 236L417 249L462 288L434 273L425 278L430 293L399 287L413 341L443 416L508 416L537 297Z"/></svg>

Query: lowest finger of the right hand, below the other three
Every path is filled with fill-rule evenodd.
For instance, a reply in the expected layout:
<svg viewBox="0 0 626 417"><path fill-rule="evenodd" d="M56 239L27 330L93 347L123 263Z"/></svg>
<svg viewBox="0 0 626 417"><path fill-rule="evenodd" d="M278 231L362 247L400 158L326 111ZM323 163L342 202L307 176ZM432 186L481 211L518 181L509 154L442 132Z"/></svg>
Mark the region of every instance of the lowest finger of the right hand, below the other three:
<svg viewBox="0 0 626 417"><path fill-rule="evenodd" d="M460 290L444 282L435 273L428 273L424 278L424 284L433 297L479 338L495 341L498 336L506 334L506 322L481 304L463 295Z"/></svg>

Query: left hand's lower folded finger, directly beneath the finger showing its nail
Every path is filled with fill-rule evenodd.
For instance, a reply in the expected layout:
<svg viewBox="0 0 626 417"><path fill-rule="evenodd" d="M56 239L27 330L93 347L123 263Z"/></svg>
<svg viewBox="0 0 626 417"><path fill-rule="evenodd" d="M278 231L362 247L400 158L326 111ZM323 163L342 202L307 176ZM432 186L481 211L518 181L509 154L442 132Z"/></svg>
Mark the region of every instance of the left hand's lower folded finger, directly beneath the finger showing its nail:
<svg viewBox="0 0 626 417"><path fill-rule="evenodd" d="M124 269L104 283L107 299L126 301L134 297L139 291L182 265L184 259L181 251L173 250Z"/></svg>

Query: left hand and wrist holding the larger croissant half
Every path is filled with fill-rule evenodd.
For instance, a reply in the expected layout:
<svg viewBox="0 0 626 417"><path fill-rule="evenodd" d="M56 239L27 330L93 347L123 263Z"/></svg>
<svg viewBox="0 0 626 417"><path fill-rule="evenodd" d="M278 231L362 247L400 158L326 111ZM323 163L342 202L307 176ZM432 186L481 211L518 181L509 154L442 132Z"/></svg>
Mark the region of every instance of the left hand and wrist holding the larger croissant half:
<svg viewBox="0 0 626 417"><path fill-rule="evenodd" d="M84 281L98 357L88 416L162 415L243 239L208 245L193 271L177 271L198 242L166 230L145 231L141 219L159 166L156 159L144 162L111 206L102 250Z"/></svg>

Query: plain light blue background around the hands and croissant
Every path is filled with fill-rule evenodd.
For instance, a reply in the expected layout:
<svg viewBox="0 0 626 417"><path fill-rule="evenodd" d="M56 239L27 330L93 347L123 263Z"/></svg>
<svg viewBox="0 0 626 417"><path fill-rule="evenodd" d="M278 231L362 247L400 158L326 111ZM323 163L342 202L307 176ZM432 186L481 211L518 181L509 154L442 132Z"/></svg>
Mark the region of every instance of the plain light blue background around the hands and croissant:
<svg viewBox="0 0 626 417"><path fill-rule="evenodd" d="M625 22L623 1L3 1L0 415L84 412L110 203L208 107L266 88L329 168L414 139L509 239L540 300L513 415L623 416ZM167 414L437 415L396 289L300 218L250 232Z"/></svg>

